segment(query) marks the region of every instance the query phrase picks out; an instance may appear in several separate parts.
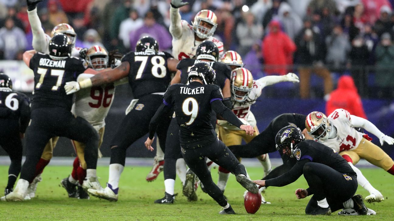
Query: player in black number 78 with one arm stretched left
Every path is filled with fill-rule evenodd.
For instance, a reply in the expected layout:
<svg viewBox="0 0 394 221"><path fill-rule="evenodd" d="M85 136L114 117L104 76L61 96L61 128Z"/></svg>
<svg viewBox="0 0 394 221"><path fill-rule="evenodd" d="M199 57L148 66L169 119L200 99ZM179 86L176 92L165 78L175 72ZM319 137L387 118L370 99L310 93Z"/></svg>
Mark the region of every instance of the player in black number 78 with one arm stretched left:
<svg viewBox="0 0 394 221"><path fill-rule="evenodd" d="M119 126L117 134L111 142L110 176L105 189L89 189L92 195L117 201L119 179L125 167L126 149L149 131L147 122L163 100L163 94L171 81L170 72L177 70L178 60L166 52L159 52L159 44L152 37L142 37L136 45L136 52L127 53L120 66L112 70L100 72L80 82L67 82L65 90L68 94L82 88L95 87L112 83L128 76L133 95L138 102L134 103ZM160 145L165 147L165 138L170 117L162 119L162 130L158 130Z"/></svg>

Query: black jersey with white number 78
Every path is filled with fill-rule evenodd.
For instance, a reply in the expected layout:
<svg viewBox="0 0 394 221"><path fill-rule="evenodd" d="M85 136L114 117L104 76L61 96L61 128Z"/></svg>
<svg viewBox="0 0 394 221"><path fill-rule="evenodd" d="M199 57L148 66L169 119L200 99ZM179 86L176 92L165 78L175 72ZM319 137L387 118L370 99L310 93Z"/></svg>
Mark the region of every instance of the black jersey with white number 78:
<svg viewBox="0 0 394 221"><path fill-rule="evenodd" d="M128 82L134 98L167 90L171 82L167 59L171 57L167 52L129 52L122 58L130 63Z"/></svg>

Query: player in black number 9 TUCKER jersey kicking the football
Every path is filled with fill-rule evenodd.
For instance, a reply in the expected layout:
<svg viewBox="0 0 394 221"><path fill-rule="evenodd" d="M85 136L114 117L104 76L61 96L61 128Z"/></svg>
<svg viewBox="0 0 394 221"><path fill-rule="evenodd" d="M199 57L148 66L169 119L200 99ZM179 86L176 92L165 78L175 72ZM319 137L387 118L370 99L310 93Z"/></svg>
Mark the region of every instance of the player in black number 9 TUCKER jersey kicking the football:
<svg viewBox="0 0 394 221"><path fill-rule="evenodd" d="M199 177L208 194L223 207L219 214L235 214L221 190L212 181L205 157L229 169L248 191L258 193L258 188L247 179L245 167L217 138L211 124L212 109L249 135L253 134L253 127L244 125L230 109L223 105L223 95L219 86L215 85L215 75L209 64L197 63L191 67L188 74L189 85L175 84L168 88L162 105L149 123L149 137L145 141L145 146L153 151L151 144L159 122L175 110L180 128L181 152L186 164Z"/></svg>

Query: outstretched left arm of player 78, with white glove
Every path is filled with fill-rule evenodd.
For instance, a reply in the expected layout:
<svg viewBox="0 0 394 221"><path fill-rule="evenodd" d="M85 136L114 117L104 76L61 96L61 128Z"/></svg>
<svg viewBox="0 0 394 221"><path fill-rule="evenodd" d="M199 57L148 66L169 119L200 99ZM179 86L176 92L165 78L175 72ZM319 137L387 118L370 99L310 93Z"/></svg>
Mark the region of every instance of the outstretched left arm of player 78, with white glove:
<svg viewBox="0 0 394 221"><path fill-rule="evenodd" d="M64 89L67 94L72 94L77 92L81 88L112 83L114 81L122 79L123 77L126 77L129 71L130 71L130 63L124 61L121 63L121 65L119 65L114 69L100 72L99 74L96 74L95 76L85 79L81 82L76 82L76 81L66 82L66 85L64 85Z"/></svg>

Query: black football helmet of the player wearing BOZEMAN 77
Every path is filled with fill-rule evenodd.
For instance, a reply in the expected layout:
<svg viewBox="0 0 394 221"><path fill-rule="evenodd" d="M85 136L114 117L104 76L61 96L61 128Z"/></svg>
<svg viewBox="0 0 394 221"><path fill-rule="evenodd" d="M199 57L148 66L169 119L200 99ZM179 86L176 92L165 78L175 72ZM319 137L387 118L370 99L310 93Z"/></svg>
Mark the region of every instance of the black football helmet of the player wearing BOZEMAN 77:
<svg viewBox="0 0 394 221"><path fill-rule="evenodd" d="M59 60L71 56L72 42L63 33L56 33L49 41L49 56Z"/></svg>

